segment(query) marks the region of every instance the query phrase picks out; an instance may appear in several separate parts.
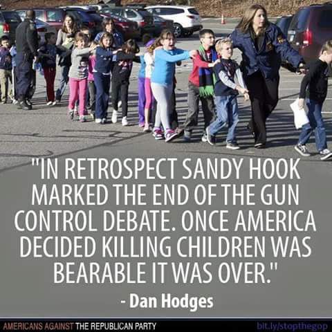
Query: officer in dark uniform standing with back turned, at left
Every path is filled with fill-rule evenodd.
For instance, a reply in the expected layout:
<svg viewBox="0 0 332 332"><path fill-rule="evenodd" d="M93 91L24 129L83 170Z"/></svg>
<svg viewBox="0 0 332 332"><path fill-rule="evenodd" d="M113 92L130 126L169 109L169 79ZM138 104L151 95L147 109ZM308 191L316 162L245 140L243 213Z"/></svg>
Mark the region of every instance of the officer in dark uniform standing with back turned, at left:
<svg viewBox="0 0 332 332"><path fill-rule="evenodd" d="M33 62L37 62L38 35L34 10L27 10L26 19L17 26L16 48L18 107L32 109L27 99L34 74Z"/></svg>

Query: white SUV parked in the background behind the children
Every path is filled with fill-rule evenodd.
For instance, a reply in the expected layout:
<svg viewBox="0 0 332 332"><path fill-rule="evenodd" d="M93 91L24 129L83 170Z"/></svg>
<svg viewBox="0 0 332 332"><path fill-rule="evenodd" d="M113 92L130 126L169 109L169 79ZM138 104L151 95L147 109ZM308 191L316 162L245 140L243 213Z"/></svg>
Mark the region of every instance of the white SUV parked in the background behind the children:
<svg viewBox="0 0 332 332"><path fill-rule="evenodd" d="M174 34L176 37L190 36L195 31L201 30L202 20L199 12L190 6L147 6L146 10L163 19L174 21Z"/></svg>

